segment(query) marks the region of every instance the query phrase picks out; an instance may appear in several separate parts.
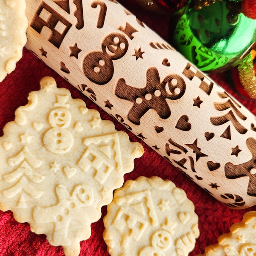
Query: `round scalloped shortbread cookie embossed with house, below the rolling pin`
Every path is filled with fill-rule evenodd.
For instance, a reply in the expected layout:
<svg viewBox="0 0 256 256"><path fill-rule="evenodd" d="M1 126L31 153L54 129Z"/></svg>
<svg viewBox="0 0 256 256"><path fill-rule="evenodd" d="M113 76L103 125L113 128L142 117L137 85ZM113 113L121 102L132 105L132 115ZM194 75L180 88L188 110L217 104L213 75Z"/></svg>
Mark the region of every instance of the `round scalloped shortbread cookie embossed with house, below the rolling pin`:
<svg viewBox="0 0 256 256"><path fill-rule="evenodd" d="M193 203L160 177L128 180L107 211L103 238L111 256L187 256L199 236Z"/></svg>

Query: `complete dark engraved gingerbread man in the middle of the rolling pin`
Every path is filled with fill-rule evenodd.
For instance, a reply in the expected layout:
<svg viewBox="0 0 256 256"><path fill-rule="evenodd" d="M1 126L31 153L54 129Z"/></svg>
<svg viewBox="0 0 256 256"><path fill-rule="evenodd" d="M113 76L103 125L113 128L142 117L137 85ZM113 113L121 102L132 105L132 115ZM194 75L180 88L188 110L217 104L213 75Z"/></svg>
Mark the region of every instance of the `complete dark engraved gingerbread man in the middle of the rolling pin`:
<svg viewBox="0 0 256 256"><path fill-rule="evenodd" d="M149 110L154 109L162 119L171 115L166 99L180 99L186 90L186 84L177 74L166 76L162 83L157 69L150 67L147 70L146 86L135 88L127 85L125 79L117 81L115 94L120 99L133 103L128 113L128 119L135 125L140 125L141 117Z"/></svg>

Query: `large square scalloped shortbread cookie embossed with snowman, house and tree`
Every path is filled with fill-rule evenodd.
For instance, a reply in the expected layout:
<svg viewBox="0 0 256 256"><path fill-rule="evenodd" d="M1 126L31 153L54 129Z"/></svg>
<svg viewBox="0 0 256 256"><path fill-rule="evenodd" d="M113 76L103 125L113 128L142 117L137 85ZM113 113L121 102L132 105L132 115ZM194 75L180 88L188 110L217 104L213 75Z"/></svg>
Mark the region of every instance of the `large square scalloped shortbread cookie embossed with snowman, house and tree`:
<svg viewBox="0 0 256 256"><path fill-rule="evenodd" d="M28 99L0 138L0 209L77 256L143 146L51 77Z"/></svg>

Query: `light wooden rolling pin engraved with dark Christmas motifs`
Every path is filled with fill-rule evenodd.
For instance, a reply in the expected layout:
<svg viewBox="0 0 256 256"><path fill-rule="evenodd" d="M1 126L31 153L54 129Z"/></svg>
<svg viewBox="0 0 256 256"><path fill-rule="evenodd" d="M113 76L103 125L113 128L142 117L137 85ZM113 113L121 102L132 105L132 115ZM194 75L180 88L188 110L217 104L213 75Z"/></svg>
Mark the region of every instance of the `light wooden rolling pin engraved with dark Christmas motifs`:
<svg viewBox="0 0 256 256"><path fill-rule="evenodd" d="M115 0L26 2L29 50L219 201L256 204L250 111Z"/></svg>

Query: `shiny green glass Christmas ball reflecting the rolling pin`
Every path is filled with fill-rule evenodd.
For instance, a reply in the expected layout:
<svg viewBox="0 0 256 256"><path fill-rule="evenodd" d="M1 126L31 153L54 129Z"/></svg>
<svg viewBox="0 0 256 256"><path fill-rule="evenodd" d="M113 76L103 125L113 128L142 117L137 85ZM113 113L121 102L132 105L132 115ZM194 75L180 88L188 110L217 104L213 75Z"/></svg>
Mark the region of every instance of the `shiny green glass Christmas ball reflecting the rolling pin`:
<svg viewBox="0 0 256 256"><path fill-rule="evenodd" d="M255 41L256 20L241 13L241 1L198 6L191 0L174 26L172 44L200 70L212 73L239 64Z"/></svg>

